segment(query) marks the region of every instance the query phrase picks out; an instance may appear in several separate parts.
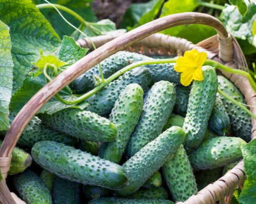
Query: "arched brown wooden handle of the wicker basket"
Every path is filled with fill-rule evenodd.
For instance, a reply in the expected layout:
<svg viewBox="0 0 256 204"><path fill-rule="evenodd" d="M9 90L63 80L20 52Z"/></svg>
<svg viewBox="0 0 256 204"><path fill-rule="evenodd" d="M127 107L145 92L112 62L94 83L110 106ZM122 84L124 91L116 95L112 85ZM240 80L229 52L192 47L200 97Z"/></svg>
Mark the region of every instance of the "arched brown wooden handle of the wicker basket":
<svg viewBox="0 0 256 204"><path fill-rule="evenodd" d="M217 18L208 14L196 12L172 14L141 25L140 27L124 33L116 39L113 39L112 41L97 48L90 54L84 56L82 59L71 65L69 69L63 71L51 82L42 87L14 118L10 130L8 131L0 148L0 158L11 156L12 150L15 147L20 134L22 134L26 125L36 112L44 106L51 97L79 77L79 75L86 72L102 60L115 54L119 50L122 50L126 46L129 46L147 36L177 25L193 23L206 24L215 28L219 40L222 42L231 41L231 45L229 43L227 47L230 48L231 46L232 49L232 39L227 33L224 25ZM225 43L222 44L225 45ZM0 183L0 191L8 189L4 188L3 185L6 185L5 180L2 180ZM8 200L7 203L15 203L8 191L4 193L4 200Z"/></svg>

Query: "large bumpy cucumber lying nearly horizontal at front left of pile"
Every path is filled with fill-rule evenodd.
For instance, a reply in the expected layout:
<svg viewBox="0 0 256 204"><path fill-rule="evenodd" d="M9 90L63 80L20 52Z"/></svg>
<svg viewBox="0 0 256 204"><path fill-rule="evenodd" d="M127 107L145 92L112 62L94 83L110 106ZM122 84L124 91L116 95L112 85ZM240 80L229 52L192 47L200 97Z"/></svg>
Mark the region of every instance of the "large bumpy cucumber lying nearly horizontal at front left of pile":
<svg viewBox="0 0 256 204"><path fill-rule="evenodd" d="M70 181L117 189L127 181L125 169L74 147L53 141L37 142L32 157L50 172Z"/></svg>

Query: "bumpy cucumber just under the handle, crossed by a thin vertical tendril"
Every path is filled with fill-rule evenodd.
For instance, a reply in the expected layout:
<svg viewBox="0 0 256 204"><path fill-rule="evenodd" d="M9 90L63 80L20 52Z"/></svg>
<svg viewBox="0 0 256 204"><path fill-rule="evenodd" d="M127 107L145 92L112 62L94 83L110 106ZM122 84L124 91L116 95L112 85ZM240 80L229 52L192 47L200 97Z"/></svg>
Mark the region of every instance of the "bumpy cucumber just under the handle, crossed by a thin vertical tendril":
<svg viewBox="0 0 256 204"><path fill-rule="evenodd" d="M119 52L103 60L100 65L103 71L104 78L110 77L113 73L117 72L121 68L129 65L131 62L126 58L125 53ZM75 93L86 93L92 90L95 86L94 76L99 78L100 71L99 65L96 65L89 69L84 74L80 75L74 82L71 83L71 88Z"/></svg>

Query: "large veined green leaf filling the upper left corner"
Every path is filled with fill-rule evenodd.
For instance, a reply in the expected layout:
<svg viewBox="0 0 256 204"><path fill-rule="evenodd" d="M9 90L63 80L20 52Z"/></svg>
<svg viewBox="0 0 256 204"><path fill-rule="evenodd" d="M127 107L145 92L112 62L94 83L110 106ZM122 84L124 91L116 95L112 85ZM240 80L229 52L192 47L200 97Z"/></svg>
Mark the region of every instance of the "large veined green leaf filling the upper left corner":
<svg viewBox="0 0 256 204"><path fill-rule="evenodd" d="M31 0L0 1L0 20L10 28L14 93L33 68L31 62L39 57L39 49L51 53L60 39Z"/></svg>

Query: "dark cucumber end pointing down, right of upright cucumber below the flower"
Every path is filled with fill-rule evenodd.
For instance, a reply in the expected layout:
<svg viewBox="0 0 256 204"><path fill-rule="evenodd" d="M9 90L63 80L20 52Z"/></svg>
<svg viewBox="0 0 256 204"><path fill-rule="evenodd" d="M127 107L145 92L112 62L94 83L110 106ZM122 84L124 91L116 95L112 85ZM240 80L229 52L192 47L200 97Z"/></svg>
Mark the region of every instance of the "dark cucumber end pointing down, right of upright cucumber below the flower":
<svg viewBox="0 0 256 204"><path fill-rule="evenodd" d="M219 93L217 93L208 126L211 132L219 136L225 136L230 130L230 119L223 106Z"/></svg>

